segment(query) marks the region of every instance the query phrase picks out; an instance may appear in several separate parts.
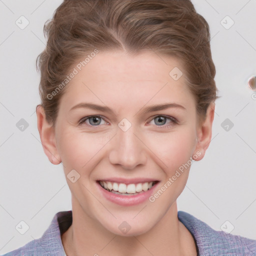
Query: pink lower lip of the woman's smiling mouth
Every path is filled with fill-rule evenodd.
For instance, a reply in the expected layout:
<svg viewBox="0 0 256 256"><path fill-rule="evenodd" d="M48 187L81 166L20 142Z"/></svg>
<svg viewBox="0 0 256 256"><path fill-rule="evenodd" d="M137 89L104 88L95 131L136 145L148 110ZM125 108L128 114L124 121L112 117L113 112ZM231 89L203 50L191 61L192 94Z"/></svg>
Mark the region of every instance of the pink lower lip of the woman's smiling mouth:
<svg viewBox="0 0 256 256"><path fill-rule="evenodd" d="M134 195L122 195L109 192L106 189L104 189L98 182L96 183L99 187L100 192L106 199L122 206L131 206L146 201L149 198L149 196L153 193L156 187L156 184L154 184L150 189L148 189L145 192Z"/></svg>

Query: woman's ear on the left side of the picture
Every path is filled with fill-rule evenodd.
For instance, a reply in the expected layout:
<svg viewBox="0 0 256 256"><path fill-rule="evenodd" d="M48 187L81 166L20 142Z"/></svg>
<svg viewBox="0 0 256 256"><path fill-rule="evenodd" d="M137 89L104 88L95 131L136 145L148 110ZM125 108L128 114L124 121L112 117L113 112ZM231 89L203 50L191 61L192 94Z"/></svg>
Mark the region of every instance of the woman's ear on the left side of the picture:
<svg viewBox="0 0 256 256"><path fill-rule="evenodd" d="M37 128L40 134L40 139L43 151L53 164L61 162L58 150L56 147L55 128L49 124L45 118L45 112L41 105L36 106Z"/></svg>

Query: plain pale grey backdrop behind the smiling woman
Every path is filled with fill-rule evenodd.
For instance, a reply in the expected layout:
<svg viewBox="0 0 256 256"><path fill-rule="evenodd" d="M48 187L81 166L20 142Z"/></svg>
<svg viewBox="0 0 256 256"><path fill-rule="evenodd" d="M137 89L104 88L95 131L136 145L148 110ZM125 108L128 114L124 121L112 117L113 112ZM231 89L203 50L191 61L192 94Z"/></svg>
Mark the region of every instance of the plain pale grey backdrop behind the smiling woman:
<svg viewBox="0 0 256 256"><path fill-rule="evenodd" d="M0 0L0 254L40 237L56 212L71 209L62 165L44 155L35 114L43 24L61 2ZM247 86L256 75L256 0L192 2L210 26L221 98L211 143L190 168L178 210L256 239L256 94ZM29 226L24 234L15 228L20 221Z"/></svg>

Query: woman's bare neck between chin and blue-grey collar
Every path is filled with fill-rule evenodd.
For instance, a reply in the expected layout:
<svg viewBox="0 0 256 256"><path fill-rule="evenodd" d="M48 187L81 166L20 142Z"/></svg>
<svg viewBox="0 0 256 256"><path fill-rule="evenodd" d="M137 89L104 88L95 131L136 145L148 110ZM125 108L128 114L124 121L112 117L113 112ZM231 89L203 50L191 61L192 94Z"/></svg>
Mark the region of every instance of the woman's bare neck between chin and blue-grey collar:
<svg viewBox="0 0 256 256"><path fill-rule="evenodd" d="M72 224L61 239L67 256L196 255L192 235L178 220L176 201L153 228L136 236L109 232L87 216L79 204L74 204Z"/></svg>

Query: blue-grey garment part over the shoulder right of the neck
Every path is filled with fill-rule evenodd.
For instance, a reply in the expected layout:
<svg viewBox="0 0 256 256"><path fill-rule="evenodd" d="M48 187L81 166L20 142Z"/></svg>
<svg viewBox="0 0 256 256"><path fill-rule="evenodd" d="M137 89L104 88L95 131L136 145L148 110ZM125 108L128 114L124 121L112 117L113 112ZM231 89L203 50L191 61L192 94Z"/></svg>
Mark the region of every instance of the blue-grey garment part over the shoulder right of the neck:
<svg viewBox="0 0 256 256"><path fill-rule="evenodd" d="M178 218L194 236L200 255L256 255L256 240L214 230L184 211L178 211Z"/></svg>

